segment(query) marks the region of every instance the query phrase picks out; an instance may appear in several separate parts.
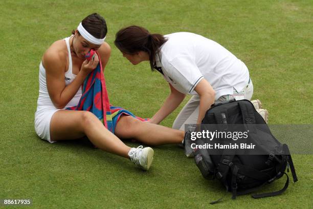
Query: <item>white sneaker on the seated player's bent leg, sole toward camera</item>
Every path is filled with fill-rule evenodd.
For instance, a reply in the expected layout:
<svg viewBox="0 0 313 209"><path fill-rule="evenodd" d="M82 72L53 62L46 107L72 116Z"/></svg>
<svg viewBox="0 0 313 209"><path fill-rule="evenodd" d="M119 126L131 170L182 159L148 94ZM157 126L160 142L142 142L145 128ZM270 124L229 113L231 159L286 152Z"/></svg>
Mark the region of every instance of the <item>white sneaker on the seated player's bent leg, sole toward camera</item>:
<svg viewBox="0 0 313 209"><path fill-rule="evenodd" d="M128 156L133 164L137 165L144 171L148 171L153 160L154 152L152 148L142 148L142 145L140 145L138 148L131 148L128 152Z"/></svg>

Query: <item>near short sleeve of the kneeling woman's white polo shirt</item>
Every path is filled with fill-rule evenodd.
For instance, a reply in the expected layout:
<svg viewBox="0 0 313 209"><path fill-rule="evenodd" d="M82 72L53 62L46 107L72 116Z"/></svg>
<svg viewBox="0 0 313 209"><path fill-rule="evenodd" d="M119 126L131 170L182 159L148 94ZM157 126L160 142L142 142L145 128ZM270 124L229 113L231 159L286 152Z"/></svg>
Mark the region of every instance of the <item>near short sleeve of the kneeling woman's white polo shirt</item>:
<svg viewBox="0 0 313 209"><path fill-rule="evenodd" d="M190 56L175 57L166 66L169 76L191 93L197 86L203 75Z"/></svg>

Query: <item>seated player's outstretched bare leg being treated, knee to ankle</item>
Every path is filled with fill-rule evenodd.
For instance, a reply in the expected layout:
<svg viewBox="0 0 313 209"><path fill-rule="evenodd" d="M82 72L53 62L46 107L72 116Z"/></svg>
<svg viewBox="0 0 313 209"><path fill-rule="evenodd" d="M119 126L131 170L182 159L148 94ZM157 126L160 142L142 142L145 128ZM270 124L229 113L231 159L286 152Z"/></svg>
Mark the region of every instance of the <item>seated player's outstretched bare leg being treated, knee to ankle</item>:
<svg viewBox="0 0 313 209"><path fill-rule="evenodd" d="M131 116L121 116L115 134L119 138L135 138L148 145L182 143L185 136L184 131L142 122Z"/></svg>

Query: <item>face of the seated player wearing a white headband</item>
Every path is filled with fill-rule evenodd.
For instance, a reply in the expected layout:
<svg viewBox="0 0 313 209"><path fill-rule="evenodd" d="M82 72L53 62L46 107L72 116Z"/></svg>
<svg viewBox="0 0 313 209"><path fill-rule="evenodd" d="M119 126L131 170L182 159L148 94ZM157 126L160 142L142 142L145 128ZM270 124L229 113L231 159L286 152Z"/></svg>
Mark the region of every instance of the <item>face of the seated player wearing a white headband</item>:
<svg viewBox="0 0 313 209"><path fill-rule="evenodd" d="M90 52L90 50L98 50L100 47L101 45L91 44L81 35L75 34L73 50L78 58L85 59L85 55Z"/></svg>

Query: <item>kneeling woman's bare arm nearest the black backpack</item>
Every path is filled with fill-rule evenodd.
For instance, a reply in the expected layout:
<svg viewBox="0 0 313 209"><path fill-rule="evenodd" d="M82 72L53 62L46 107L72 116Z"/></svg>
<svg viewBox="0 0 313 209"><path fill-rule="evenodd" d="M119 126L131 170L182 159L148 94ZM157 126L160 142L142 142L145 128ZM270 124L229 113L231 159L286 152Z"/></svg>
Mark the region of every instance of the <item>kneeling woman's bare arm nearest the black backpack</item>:
<svg viewBox="0 0 313 209"><path fill-rule="evenodd" d="M200 124L207 110L215 101L215 91L205 78L198 83L194 90L200 97L199 115L197 119L197 124Z"/></svg>

